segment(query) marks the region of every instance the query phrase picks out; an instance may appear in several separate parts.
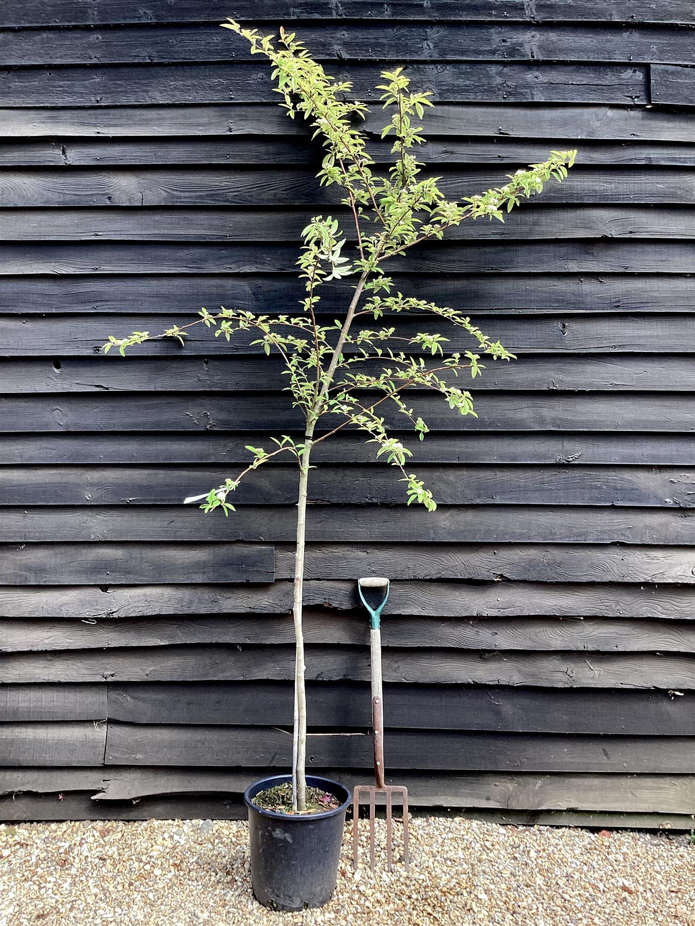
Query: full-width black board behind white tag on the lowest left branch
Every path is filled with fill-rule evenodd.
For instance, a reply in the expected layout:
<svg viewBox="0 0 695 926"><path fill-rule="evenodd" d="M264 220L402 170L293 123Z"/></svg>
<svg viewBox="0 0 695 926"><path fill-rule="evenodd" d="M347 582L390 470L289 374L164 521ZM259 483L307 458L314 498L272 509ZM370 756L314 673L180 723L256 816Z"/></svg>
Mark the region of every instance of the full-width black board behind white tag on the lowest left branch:
<svg viewBox="0 0 695 926"><path fill-rule="evenodd" d="M2 467L0 505L176 505L207 493L228 474L227 469L204 468L173 474L152 467ZM695 468L449 464L421 466L418 475L442 505L695 507ZM324 466L312 474L309 487L310 502L323 505L398 504L403 498L403 487L386 467ZM277 465L249 473L234 492L234 504L237 500L240 505L295 505L296 468ZM225 581L272 582L270 547L229 546L227 557ZM151 574L155 562L143 559L136 569ZM106 568L104 560L98 568Z"/></svg>

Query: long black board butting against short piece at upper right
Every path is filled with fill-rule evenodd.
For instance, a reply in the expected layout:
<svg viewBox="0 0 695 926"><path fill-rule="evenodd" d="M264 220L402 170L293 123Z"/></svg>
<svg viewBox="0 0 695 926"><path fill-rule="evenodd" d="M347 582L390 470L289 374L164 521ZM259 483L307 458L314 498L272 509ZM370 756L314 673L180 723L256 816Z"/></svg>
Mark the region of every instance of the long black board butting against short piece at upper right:
<svg viewBox="0 0 695 926"><path fill-rule="evenodd" d="M222 33L223 34L223 33ZM380 67L351 63L333 68L337 80L353 82L360 99L376 100ZM631 64L521 63L415 64L413 85L437 101L603 103L649 102L647 69ZM181 103L274 102L268 69L259 64L105 65L98 69L0 70L4 106L120 106Z"/></svg>

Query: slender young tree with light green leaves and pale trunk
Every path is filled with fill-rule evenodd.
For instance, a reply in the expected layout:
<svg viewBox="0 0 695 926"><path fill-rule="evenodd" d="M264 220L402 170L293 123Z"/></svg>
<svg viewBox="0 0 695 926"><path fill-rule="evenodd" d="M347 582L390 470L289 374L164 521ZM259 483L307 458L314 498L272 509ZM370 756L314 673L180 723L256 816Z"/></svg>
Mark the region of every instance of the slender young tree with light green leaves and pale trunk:
<svg viewBox="0 0 695 926"><path fill-rule="evenodd" d="M149 332L133 332L125 338L111 335L104 350L115 347L124 355L126 348L157 337L176 338L184 344L187 329L202 324L215 328L215 337L222 336L227 341L236 332L255 332L258 337L252 344L260 345L268 356L276 352L282 358L287 376L285 391L305 420L303 440L297 442L283 435L271 438L275 444L271 450L247 446L251 461L246 469L210 489L208 494L186 501L202 499L203 510L221 508L226 516L234 511L229 496L247 473L282 455L297 463L293 603L297 649L292 772L293 805L303 810L307 707L302 593L312 449L346 428L365 433L367 443L377 444L376 456L400 472L408 505L415 502L434 511L433 494L410 471L411 451L390 432L385 408L394 408L422 441L428 432L427 424L410 407L411 396L404 394L407 390L434 391L461 415L475 415L471 394L452 382L460 373L473 379L478 376L483 369L481 355L493 360L514 357L460 310L394 292L393 281L386 275L388 262L394 257L407 257L417 244L440 240L450 228L466 219L503 221L505 212L518 206L522 198L540 193L551 178L564 180L576 152L554 151L547 161L508 175L507 182L499 187L460 202L451 201L440 190L439 178L423 176L423 164L412 154L412 149L424 142L416 122L423 118L425 108L432 106L429 99L432 94L412 92L403 69L384 71L384 83L377 88L383 92L383 107L390 116L381 137L393 138L394 162L387 171L376 172L367 135L356 125L368 108L344 98L352 89L350 82L334 81L327 75L294 33L281 29L276 42L274 36L242 29L233 19L223 26L242 36L252 54L269 59L276 91L283 97L280 105L291 119L299 115L308 120L313 137L321 139L325 155L317 178L323 186L335 184L343 190L340 202L347 206L355 244L347 246L342 219L332 216L310 219L302 232L303 244L297 261L305 289L300 314L257 315L242 308L226 307L210 313L203 308L200 318L182 327L173 325L158 335ZM322 323L319 316L322 287L346 277L355 282L345 314L335 322ZM413 337L399 335L397 321L393 319L404 312L462 328L471 336L473 349L445 354L449 339L429 329ZM381 325L356 330L356 320L366 317L381 320ZM428 355L427 361L424 355Z"/></svg>

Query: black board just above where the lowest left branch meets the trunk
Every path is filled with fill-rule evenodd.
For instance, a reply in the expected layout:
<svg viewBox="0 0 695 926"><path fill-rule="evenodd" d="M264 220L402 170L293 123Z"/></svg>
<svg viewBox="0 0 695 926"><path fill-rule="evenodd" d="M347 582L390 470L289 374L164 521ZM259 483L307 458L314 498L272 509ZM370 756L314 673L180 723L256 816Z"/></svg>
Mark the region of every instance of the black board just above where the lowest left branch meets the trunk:
<svg viewBox="0 0 695 926"><path fill-rule="evenodd" d="M113 357L110 362L119 363L119 360ZM370 395L374 399L377 397L367 392L360 395L362 401L369 400ZM594 393L589 401L581 394L557 391L481 392L474 396L477 417L462 417L439 396L427 393L414 395L412 405L416 414L435 432L640 432L645 421L649 421L652 432L695 431L695 402L690 394ZM384 419L386 427L399 433L406 445L414 443L411 432L401 431L402 416L397 410L386 408ZM109 392L61 394L55 398L43 394L0 398L0 432L16 432L19 421L23 432L270 431L285 434L298 430L302 417L286 397L279 394ZM326 424L320 420L317 433L325 430L329 423L333 426L335 419L326 419ZM197 488L197 491L203 490Z"/></svg>

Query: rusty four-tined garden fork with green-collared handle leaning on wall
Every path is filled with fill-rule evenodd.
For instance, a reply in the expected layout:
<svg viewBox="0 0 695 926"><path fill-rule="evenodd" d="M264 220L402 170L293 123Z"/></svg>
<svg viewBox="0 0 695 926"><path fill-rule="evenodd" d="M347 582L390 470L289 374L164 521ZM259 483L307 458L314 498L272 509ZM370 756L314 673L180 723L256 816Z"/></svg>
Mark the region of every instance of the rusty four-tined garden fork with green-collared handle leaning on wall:
<svg viewBox="0 0 695 926"><path fill-rule="evenodd" d="M380 577L360 579L358 582L360 599L370 613L371 630L370 644L372 651L372 727L374 739L374 778L375 784L358 784L352 795L352 844L353 865L358 868L359 856L359 828L360 828L360 795L369 795L369 856L371 868L374 870L375 862L375 833L374 820L376 819L376 795L383 794L386 799L386 866L392 870L393 857L393 799L399 795L403 803L403 864L405 870L410 867L408 853L408 788L397 784L386 784L384 775L384 694L381 671L381 612L388 599L388 579ZM372 607L364 598L362 589L382 589L381 604Z"/></svg>

